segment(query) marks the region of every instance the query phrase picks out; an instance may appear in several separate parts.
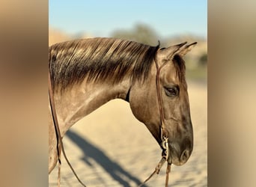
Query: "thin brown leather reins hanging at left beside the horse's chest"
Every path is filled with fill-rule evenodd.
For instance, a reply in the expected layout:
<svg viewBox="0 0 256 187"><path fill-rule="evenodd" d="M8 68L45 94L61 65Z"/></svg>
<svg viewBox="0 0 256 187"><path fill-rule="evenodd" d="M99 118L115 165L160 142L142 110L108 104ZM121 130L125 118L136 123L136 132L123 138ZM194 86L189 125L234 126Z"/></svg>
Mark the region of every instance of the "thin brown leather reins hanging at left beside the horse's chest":
<svg viewBox="0 0 256 187"><path fill-rule="evenodd" d="M58 126L58 118L57 118L57 114L56 114L56 110L55 110L55 102L54 102L54 96L53 96L53 91L52 91L52 79L51 79L51 75L50 75L50 70L51 70L51 68L49 67L49 73L48 73L49 74L49 76L48 76L49 101L50 101L51 110L52 110L53 123L54 123L54 126L55 126L55 132L56 132L56 138L57 138L57 151L58 151L58 187L61 186L61 150L63 152L64 158L67 161L67 164L70 166L71 171L76 176L76 179L79 181L79 183L82 186L85 186L85 184L82 183L82 181L77 176L76 171L73 169L72 165L70 164L70 161L67 159L67 156L66 156L66 153L65 153L65 150L64 150L63 142L62 142L62 139L61 139L61 132L60 132L60 129L59 129L59 126Z"/></svg>

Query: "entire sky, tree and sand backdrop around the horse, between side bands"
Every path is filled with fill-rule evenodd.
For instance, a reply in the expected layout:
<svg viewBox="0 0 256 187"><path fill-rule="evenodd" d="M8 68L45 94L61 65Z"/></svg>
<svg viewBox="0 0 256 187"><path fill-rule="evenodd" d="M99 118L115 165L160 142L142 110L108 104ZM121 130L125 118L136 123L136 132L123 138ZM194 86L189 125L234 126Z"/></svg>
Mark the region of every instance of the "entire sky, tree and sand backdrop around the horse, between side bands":
<svg viewBox="0 0 256 187"><path fill-rule="evenodd" d="M207 1L49 1L49 46L66 40L115 37L167 47L198 45L185 56L194 150L172 167L171 186L207 186ZM156 167L161 150L119 99L79 120L64 137L70 162L88 186L138 186ZM79 186L63 162L61 185ZM49 175L56 186L58 168ZM148 186L164 186L165 166Z"/></svg>

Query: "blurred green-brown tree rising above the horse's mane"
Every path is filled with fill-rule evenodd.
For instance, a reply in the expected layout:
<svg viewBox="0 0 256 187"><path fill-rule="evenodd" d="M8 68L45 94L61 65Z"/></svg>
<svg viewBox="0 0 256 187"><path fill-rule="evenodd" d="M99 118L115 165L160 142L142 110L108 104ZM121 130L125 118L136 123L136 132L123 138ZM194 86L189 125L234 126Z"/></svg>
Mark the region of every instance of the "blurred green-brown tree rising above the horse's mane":
<svg viewBox="0 0 256 187"><path fill-rule="evenodd" d="M117 30L112 33L112 37L125 40L133 40L151 46L158 44L158 35L148 25L137 24L131 31Z"/></svg>

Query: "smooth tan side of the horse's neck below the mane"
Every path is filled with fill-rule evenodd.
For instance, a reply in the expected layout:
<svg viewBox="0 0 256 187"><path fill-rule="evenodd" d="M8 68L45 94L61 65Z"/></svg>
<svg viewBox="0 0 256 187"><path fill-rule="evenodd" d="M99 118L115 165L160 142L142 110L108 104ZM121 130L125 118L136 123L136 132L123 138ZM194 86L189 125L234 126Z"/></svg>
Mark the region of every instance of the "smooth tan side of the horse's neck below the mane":
<svg viewBox="0 0 256 187"><path fill-rule="evenodd" d="M84 81L62 93L55 92L55 107L61 136L74 123L109 100L126 99L129 87L129 79L115 85L110 85L107 80L99 83Z"/></svg>

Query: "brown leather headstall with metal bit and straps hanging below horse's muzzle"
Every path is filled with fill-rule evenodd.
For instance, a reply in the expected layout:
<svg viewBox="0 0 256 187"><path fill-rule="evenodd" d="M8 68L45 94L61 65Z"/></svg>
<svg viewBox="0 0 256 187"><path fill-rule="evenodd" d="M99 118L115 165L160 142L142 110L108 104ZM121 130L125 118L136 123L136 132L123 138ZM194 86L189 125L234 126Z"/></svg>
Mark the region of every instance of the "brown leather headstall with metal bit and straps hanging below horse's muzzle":
<svg viewBox="0 0 256 187"><path fill-rule="evenodd" d="M156 64L156 93L157 93L157 101L158 101L158 105L159 105L159 113L160 113L160 119L161 119L160 137L161 137L161 141L162 141L161 142L162 159L159 161L158 165L156 165L155 171L153 171L153 173L150 174L150 177L147 177L147 179L144 180L144 182L141 183L139 186L143 186L155 174L159 174L159 171L161 170L162 165L165 162L167 162L166 175L165 175L165 187L168 187L169 174L171 172L171 157L169 157L168 135L167 135L167 132L165 131L164 113L163 113L163 109L162 109L162 96L161 96L161 91L159 88L159 74L160 74L160 70L165 65L165 63L162 64L161 67L159 67L156 62L156 58L155 58L155 64Z"/></svg>

